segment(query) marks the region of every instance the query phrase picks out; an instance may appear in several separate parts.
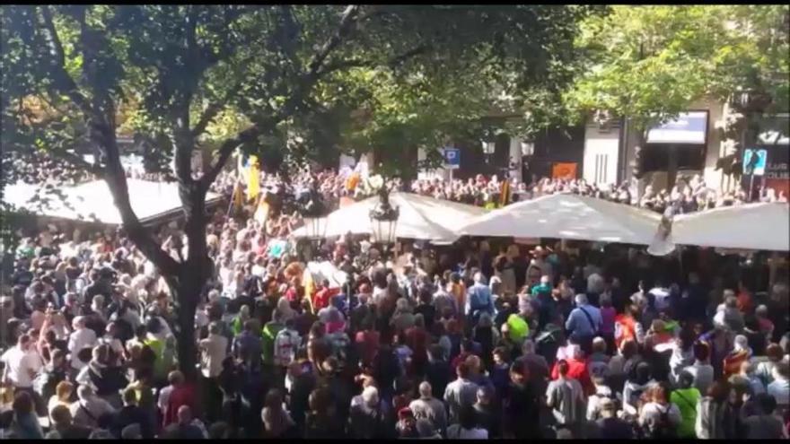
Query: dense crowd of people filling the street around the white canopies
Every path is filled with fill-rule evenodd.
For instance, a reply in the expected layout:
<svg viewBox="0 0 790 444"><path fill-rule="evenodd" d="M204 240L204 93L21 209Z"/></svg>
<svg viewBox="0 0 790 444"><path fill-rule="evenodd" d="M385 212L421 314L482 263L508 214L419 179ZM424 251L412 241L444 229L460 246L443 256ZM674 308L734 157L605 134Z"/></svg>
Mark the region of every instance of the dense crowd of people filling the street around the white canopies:
<svg viewBox="0 0 790 444"><path fill-rule="evenodd" d="M262 185L298 195L312 181L329 200L370 192L335 172ZM236 183L222 175L214 189L231 196ZM502 188L478 177L411 189L486 205ZM709 205L704 189L691 178L640 205ZM543 180L514 185L513 199L566 191L630 197ZM190 335L178 301L123 231L25 233L0 298L0 436L788 437L788 276L769 284L759 257L505 239L404 243L392 257L347 237L316 248L347 276L336 284L304 273L288 239L298 212L281 200L266 222L253 208L211 215L195 369L179 365ZM181 256L177 224L157 236Z"/></svg>

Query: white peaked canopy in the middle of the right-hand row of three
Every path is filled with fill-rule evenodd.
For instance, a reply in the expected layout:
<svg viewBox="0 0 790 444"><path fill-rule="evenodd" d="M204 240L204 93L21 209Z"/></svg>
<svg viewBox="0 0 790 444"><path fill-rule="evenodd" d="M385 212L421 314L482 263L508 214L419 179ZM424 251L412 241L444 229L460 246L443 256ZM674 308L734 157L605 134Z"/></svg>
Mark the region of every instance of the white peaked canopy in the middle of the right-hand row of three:
<svg viewBox="0 0 790 444"><path fill-rule="evenodd" d="M595 197L557 194L505 206L461 228L462 235L555 238L650 245L661 214Z"/></svg>

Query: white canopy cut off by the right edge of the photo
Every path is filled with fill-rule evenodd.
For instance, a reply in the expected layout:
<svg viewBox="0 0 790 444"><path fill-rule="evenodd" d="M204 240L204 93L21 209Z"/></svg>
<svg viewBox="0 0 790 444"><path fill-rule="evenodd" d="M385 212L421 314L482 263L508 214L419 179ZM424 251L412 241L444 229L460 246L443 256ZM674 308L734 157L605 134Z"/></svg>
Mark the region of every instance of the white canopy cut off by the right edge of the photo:
<svg viewBox="0 0 790 444"><path fill-rule="evenodd" d="M744 204L680 214L672 222L675 244L698 247L790 250L790 205Z"/></svg>

